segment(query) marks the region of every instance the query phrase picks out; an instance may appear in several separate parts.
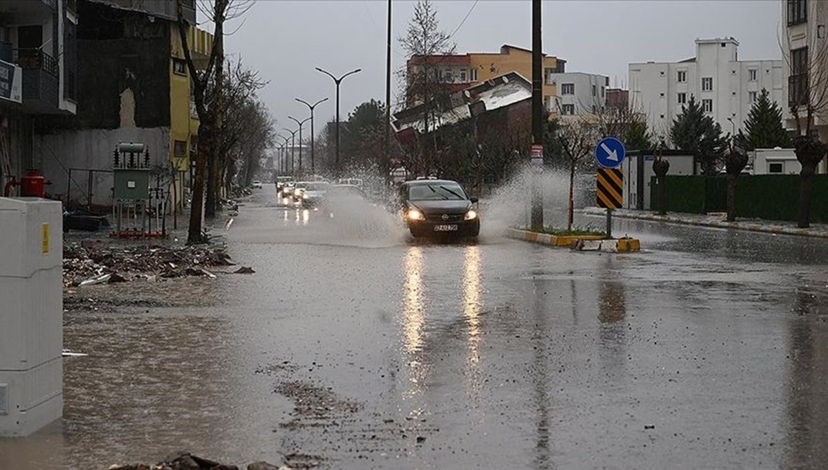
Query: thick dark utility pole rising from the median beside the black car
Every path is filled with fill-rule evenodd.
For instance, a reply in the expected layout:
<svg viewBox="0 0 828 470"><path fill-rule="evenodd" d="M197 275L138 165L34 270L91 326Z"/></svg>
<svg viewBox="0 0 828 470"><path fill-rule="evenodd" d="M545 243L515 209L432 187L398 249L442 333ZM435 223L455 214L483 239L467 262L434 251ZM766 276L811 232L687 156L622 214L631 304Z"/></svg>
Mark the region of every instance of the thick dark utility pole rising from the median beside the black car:
<svg viewBox="0 0 828 470"><path fill-rule="evenodd" d="M532 0L532 221L534 231L543 229L543 52L541 0Z"/></svg>

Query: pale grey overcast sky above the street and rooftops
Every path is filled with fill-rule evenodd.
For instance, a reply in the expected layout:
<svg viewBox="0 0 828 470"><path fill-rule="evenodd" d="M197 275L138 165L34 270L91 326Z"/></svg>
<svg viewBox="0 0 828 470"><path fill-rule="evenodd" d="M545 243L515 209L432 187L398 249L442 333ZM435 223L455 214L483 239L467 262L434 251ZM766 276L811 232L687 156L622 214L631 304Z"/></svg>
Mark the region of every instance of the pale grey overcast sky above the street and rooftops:
<svg viewBox="0 0 828 470"><path fill-rule="evenodd" d="M453 36L459 53L493 52L503 44L531 47L528 0L434 3L441 29L451 32L460 27ZM414 4L393 0L395 70L405 64L397 38L404 33ZM778 0L543 2L543 50L565 59L567 71L604 74L610 84L619 86L627 83L629 62L692 57L696 38L733 36L740 43L739 59L778 59L780 5ZM330 97L329 103L316 108L318 131L334 116L335 86L314 70L317 66L337 75L363 70L341 85L342 120L359 103L384 99L386 7L383 0L258 0L243 25L226 39L225 49L241 55L270 82L261 97L280 129L296 127L288 115L308 116L305 105L294 98L313 102Z"/></svg>

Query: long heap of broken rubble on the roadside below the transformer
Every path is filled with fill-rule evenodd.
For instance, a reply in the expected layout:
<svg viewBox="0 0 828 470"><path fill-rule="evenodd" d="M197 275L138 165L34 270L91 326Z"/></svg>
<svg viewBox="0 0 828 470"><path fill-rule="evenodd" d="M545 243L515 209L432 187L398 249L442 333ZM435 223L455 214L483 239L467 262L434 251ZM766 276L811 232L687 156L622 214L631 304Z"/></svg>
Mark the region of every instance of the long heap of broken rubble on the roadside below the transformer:
<svg viewBox="0 0 828 470"><path fill-rule="evenodd" d="M65 287L153 276L215 277L205 269L210 266L233 266L224 247L124 247L103 242L67 242L63 247Z"/></svg>

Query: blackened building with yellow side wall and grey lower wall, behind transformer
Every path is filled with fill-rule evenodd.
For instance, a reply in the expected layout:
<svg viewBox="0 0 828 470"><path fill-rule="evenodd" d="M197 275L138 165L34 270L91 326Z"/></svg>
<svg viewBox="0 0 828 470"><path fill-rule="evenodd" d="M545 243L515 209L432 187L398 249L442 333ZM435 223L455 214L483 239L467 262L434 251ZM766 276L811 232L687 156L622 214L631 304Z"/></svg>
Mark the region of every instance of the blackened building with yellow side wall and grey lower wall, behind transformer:
<svg viewBox="0 0 828 470"><path fill-rule="evenodd" d="M185 19L195 23L193 2ZM194 59L206 60L212 36L189 28ZM38 118L33 156L51 196L70 205L113 204L113 148L141 142L150 151L171 207L190 181L198 119L176 21L176 2L79 0L77 113Z"/></svg>

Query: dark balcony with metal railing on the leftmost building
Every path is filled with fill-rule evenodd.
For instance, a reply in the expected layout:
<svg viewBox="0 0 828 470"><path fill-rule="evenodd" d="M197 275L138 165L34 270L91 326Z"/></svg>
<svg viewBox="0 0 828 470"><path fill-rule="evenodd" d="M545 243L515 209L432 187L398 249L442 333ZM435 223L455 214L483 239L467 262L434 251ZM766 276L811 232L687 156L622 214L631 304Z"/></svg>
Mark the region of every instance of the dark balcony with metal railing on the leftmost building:
<svg viewBox="0 0 828 470"><path fill-rule="evenodd" d="M57 60L40 49L17 49L14 53L14 61L23 72L23 110L56 113L60 96Z"/></svg>

